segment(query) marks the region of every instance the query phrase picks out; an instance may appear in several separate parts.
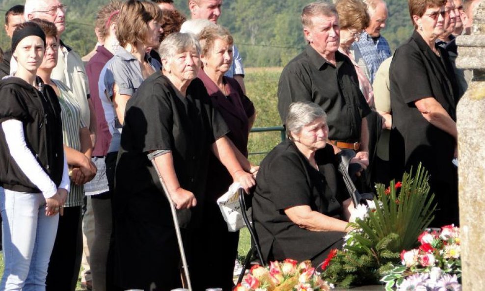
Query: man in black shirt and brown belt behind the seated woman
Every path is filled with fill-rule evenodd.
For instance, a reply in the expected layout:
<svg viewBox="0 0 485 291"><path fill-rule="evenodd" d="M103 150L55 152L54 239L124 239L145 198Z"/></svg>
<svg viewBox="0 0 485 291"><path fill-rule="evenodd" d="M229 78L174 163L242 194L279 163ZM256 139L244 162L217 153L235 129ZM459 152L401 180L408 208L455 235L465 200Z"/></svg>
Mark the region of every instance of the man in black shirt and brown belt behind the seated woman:
<svg viewBox="0 0 485 291"><path fill-rule="evenodd" d="M355 150L353 162L369 165L366 116L370 108L359 89L350 59L339 53L340 28L335 7L312 3L303 8L303 32L309 45L284 68L278 85L278 111L283 124L293 102L312 101L323 107L328 143L335 153Z"/></svg>

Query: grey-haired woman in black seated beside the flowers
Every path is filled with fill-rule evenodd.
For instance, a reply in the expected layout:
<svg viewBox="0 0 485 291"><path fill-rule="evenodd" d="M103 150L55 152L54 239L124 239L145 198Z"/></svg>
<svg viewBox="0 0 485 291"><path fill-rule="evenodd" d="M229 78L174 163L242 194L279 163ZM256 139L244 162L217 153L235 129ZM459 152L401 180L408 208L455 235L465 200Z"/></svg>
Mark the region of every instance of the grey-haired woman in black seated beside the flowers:
<svg viewBox="0 0 485 291"><path fill-rule="evenodd" d="M340 248L353 204L341 187L333 148L326 144L323 109L298 102L289 107L289 139L261 162L253 221L264 260L311 260L320 264Z"/></svg>

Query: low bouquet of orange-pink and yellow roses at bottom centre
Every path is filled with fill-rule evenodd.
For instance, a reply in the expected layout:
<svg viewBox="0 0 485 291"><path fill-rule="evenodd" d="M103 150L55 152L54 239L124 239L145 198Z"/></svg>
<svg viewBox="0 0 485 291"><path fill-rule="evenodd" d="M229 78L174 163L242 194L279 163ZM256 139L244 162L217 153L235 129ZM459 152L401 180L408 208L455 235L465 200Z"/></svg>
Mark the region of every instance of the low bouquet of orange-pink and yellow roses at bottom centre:
<svg viewBox="0 0 485 291"><path fill-rule="evenodd" d="M271 262L269 267L254 265L235 291L328 291L333 286L324 282L310 261Z"/></svg>

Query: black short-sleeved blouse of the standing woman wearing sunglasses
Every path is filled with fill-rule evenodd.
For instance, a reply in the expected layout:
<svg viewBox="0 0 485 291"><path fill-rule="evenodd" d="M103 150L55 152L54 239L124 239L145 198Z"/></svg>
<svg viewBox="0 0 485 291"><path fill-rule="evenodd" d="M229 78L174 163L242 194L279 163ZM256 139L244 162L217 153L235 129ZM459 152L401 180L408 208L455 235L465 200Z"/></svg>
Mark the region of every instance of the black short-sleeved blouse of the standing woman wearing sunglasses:
<svg viewBox="0 0 485 291"><path fill-rule="evenodd" d="M433 179L449 181L453 177L454 137L427 121L414 104L432 97L456 120L457 84L448 53L436 46L433 53L420 34L396 50L389 80L391 92L392 130L390 159L395 177L403 170L423 165Z"/></svg>

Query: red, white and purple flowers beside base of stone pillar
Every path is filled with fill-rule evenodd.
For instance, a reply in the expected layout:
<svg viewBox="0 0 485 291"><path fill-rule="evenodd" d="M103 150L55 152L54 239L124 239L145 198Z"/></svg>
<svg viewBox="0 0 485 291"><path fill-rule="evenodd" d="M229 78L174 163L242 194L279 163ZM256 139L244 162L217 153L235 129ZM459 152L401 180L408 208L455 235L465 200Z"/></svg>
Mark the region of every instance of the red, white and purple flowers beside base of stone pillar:
<svg viewBox="0 0 485 291"><path fill-rule="evenodd" d="M401 252L401 264L381 281L386 289L461 290L460 231L454 225L440 231L424 231L418 237L418 248Z"/></svg>

